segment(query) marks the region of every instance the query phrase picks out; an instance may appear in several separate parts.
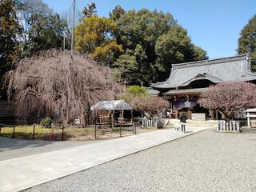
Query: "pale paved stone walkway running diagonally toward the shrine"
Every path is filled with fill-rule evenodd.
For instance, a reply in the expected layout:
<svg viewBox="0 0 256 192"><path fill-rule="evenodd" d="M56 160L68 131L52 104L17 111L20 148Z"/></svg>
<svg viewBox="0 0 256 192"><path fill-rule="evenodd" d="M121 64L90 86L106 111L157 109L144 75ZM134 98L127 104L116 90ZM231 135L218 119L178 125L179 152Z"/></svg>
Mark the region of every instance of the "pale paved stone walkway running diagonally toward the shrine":
<svg viewBox="0 0 256 192"><path fill-rule="evenodd" d="M19 191L205 130L158 130L0 162L0 191Z"/></svg>

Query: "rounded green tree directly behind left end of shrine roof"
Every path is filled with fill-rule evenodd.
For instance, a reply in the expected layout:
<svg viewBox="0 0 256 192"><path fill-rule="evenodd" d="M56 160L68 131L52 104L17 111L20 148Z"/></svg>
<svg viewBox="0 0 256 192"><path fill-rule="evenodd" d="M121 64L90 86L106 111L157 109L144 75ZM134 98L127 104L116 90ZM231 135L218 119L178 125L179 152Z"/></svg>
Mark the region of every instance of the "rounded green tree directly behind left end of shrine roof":
<svg viewBox="0 0 256 192"><path fill-rule="evenodd" d="M170 75L171 65L181 62L193 62L206 59L206 51L194 46L186 30L181 26L170 26L166 34L162 34L156 44L156 71L161 74L158 80L165 81Z"/></svg>

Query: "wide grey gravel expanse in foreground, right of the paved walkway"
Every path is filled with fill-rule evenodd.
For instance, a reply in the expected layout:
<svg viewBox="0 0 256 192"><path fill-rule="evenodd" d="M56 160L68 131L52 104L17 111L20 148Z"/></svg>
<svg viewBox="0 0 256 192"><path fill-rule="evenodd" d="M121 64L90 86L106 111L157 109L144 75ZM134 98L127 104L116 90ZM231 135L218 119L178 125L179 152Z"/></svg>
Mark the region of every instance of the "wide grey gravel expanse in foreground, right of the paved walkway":
<svg viewBox="0 0 256 192"><path fill-rule="evenodd" d="M206 130L27 191L256 191L256 134Z"/></svg>

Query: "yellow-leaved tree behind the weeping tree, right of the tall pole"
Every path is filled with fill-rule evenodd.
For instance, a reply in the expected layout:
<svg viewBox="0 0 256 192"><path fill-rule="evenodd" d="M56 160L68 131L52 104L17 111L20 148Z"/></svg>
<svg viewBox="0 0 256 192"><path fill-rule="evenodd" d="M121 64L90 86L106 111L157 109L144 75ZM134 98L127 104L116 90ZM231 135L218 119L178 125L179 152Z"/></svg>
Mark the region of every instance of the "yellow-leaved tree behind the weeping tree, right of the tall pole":
<svg viewBox="0 0 256 192"><path fill-rule="evenodd" d="M75 29L75 49L83 54L90 54L98 62L111 66L116 54L122 52L113 37L116 24L109 18L92 15L83 18Z"/></svg>

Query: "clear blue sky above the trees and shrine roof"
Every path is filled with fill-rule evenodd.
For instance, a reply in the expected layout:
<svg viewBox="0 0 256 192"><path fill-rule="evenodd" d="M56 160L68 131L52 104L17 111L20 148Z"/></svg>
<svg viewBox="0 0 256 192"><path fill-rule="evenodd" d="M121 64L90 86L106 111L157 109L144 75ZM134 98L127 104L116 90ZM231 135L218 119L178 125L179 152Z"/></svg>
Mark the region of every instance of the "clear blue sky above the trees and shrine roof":
<svg viewBox="0 0 256 192"><path fill-rule="evenodd" d="M62 14L73 0L44 0ZM256 0L77 0L78 9L95 2L99 15L108 16L116 5L125 10L146 8L170 12L188 30L195 45L207 51L210 58L236 54L239 33L256 14Z"/></svg>

